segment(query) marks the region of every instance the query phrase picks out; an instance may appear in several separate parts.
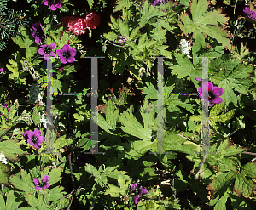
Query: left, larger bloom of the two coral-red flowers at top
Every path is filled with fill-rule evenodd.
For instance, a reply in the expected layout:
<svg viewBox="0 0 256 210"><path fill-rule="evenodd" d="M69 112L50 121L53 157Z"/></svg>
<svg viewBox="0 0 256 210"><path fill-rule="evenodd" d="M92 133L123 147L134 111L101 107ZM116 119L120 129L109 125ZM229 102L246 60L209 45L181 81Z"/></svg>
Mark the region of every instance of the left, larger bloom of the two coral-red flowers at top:
<svg viewBox="0 0 256 210"><path fill-rule="evenodd" d="M75 35L84 34L87 29L84 19L81 17L67 16L62 19L62 24L68 27L69 31L73 31ZM84 29L84 31L82 31ZM81 32L80 32L81 31Z"/></svg>

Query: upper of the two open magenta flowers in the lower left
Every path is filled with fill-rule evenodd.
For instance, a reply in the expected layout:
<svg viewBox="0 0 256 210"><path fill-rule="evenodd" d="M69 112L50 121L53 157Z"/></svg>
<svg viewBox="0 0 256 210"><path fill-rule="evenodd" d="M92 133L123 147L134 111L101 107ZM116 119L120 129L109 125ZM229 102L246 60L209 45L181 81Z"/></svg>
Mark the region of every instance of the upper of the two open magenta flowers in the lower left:
<svg viewBox="0 0 256 210"><path fill-rule="evenodd" d="M34 146L38 150L41 148L41 145L44 142L44 136L41 136L41 131L38 129L35 129L34 132L32 132L32 130L26 131L23 136L29 145Z"/></svg>

